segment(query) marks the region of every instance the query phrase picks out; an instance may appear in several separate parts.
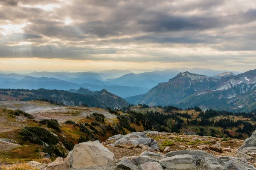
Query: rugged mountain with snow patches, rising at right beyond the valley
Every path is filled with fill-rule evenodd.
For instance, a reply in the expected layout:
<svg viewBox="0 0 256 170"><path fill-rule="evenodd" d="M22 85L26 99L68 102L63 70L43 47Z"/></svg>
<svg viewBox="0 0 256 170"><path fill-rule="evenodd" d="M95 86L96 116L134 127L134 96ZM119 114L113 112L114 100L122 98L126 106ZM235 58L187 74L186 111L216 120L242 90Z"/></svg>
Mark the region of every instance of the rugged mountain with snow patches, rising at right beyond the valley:
<svg viewBox="0 0 256 170"><path fill-rule="evenodd" d="M256 109L256 69L220 79L183 72L146 94L125 98L132 104L251 111Z"/></svg>

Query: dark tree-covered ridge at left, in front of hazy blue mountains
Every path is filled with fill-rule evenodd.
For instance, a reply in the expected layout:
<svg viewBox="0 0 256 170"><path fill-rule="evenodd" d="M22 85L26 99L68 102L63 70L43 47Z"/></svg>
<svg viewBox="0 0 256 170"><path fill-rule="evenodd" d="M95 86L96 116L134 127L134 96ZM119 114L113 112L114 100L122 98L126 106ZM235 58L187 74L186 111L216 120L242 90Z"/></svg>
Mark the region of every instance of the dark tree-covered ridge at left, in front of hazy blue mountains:
<svg viewBox="0 0 256 170"><path fill-rule="evenodd" d="M42 100L59 105L85 105L99 108L123 108L129 104L119 96L103 89L99 92L90 91L90 94L71 93L59 90L24 90L24 89L0 89L1 100Z"/></svg>

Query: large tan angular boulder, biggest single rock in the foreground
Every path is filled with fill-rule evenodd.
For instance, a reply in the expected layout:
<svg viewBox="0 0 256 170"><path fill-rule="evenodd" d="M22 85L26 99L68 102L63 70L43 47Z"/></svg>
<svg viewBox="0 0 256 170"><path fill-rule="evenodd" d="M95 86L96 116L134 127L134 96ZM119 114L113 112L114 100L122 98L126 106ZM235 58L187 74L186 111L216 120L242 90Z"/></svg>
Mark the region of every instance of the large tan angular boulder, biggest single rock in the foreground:
<svg viewBox="0 0 256 170"><path fill-rule="evenodd" d="M69 161L73 168L115 163L114 154L99 141L76 144Z"/></svg>

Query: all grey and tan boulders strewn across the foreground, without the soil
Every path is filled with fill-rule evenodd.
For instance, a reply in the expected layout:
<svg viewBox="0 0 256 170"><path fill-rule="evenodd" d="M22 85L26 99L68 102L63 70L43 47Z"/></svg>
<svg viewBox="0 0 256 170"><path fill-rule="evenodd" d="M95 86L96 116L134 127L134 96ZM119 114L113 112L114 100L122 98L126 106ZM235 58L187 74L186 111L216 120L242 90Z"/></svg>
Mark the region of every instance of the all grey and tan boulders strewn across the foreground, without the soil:
<svg viewBox="0 0 256 170"><path fill-rule="evenodd" d="M177 150L163 155L156 153L159 148L157 142L140 132L125 136L116 135L108 140L117 140L113 145L115 147L130 148L130 146L144 145L154 149L155 152L145 150L140 156L126 156L116 160L114 154L99 141L83 142L76 144L65 159L59 157L50 164L40 164L35 161L28 164L40 170L71 170L99 165L114 165L114 169L132 170L256 170L252 164L247 162L248 159L253 158L249 155L256 154L256 131L244 141L238 150L237 157L215 157L203 150ZM219 151L221 147L216 143L212 149Z"/></svg>

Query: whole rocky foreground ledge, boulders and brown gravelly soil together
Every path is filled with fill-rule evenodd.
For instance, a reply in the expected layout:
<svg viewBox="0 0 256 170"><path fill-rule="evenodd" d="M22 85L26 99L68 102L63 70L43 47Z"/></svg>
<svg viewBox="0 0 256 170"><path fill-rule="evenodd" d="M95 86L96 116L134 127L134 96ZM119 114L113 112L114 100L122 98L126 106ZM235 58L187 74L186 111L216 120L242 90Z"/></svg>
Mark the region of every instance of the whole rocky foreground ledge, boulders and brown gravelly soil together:
<svg viewBox="0 0 256 170"><path fill-rule="evenodd" d="M256 131L245 141L156 131L75 145L40 170L256 170Z"/></svg>

